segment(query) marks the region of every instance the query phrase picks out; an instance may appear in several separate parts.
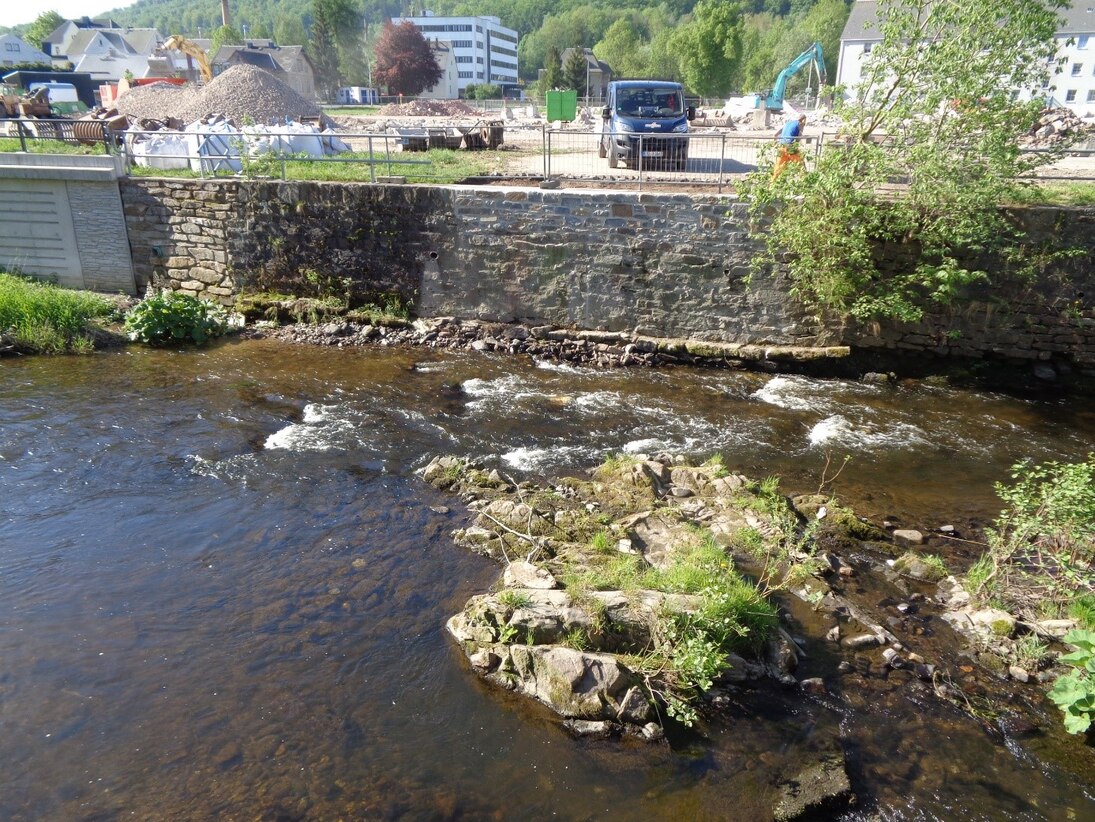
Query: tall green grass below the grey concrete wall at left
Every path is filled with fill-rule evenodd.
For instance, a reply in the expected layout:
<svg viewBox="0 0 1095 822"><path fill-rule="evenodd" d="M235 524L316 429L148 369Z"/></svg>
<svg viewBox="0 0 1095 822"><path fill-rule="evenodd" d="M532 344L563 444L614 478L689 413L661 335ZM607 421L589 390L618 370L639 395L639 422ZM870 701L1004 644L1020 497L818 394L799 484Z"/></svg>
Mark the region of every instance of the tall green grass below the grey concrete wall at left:
<svg viewBox="0 0 1095 822"><path fill-rule="evenodd" d="M101 297L0 271L0 335L18 351L90 351L93 323L113 312Z"/></svg>

